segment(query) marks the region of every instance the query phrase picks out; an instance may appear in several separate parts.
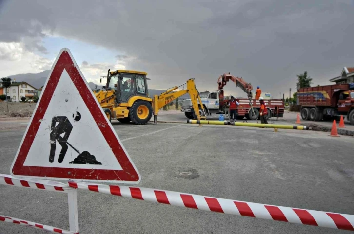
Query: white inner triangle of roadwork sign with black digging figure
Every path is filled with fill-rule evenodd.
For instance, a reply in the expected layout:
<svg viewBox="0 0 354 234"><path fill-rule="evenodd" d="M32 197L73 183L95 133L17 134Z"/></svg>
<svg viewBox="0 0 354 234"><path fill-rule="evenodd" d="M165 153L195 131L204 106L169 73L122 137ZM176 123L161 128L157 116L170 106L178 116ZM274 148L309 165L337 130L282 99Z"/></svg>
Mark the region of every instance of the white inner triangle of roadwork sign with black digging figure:
<svg viewBox="0 0 354 234"><path fill-rule="evenodd" d="M81 157L84 151L91 156ZM122 169L64 69L23 165L87 168L86 163L95 169Z"/></svg>

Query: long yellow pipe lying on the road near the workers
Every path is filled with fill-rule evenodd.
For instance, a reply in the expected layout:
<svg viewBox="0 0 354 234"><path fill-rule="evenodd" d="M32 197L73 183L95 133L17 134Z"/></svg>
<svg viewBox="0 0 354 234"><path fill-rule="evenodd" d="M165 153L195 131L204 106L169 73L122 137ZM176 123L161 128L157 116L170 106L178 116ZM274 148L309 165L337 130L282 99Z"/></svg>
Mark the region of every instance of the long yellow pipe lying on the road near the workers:
<svg viewBox="0 0 354 234"><path fill-rule="evenodd" d="M256 123L243 123L243 122L230 123L229 121L216 121L216 120L187 120L187 123L206 124L206 125L235 125L235 126L246 126L246 127L265 127L265 128L309 130L309 128L307 126L256 124Z"/></svg>

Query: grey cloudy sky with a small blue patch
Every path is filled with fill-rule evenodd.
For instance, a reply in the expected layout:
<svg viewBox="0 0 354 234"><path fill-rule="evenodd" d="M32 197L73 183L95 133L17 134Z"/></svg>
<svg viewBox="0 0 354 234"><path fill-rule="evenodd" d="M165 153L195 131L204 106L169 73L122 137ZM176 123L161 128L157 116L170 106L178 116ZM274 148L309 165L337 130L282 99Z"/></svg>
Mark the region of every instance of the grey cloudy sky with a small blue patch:
<svg viewBox="0 0 354 234"><path fill-rule="evenodd" d="M95 83L126 68L154 89L195 77L216 90L230 72L287 97L296 74L322 85L354 66L353 12L354 0L0 0L0 77L50 69L67 47Z"/></svg>

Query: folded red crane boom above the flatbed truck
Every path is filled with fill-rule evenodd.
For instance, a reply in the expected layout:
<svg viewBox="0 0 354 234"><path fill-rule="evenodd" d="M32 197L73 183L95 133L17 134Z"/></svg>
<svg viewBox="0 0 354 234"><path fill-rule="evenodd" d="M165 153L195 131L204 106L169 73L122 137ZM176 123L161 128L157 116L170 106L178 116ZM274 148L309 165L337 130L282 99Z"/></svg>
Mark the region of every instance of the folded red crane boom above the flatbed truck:
<svg viewBox="0 0 354 234"><path fill-rule="evenodd" d="M242 77L240 78L231 75L230 72L228 74L224 73L220 75L219 78L217 79L218 88L220 90L219 99L223 100L224 98L223 88L229 80L232 80L236 84L236 86L240 87L245 93L247 93L248 99L252 100L253 87L251 83L247 83L245 80L242 79Z"/></svg>

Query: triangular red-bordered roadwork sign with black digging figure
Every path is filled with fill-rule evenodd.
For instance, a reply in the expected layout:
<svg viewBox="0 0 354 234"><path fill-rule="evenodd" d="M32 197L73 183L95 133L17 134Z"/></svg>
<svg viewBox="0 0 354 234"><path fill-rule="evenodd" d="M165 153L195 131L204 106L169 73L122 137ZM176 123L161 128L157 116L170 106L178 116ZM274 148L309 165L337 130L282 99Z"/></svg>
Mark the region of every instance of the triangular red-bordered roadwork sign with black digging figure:
<svg viewBox="0 0 354 234"><path fill-rule="evenodd" d="M10 173L58 180L140 182L137 168L67 48L52 66Z"/></svg>

